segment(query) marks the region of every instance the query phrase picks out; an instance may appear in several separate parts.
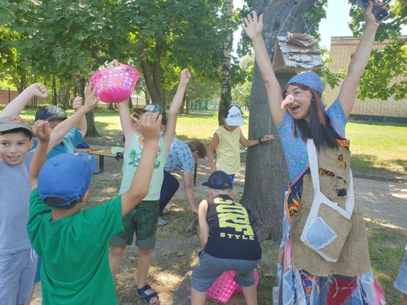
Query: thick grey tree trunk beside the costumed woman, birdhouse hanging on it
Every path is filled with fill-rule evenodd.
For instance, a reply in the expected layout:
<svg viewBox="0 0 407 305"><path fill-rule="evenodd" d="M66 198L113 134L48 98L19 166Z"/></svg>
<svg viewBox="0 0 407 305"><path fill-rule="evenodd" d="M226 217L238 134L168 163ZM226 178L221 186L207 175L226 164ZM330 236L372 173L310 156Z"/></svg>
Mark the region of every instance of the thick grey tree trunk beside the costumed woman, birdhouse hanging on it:
<svg viewBox="0 0 407 305"><path fill-rule="evenodd" d="M290 16L280 33L306 33L301 14L316 0L286 0L270 5L269 1L253 2L256 12L264 12L263 37L270 58L274 55L274 38L280 32L284 20ZM277 74L282 87L294 74ZM249 139L272 134L275 140L248 149L245 188L242 196L244 206L252 212L252 222L259 239L281 238L283 194L288 184L288 171L278 132L270 116L266 90L258 67L254 65L250 99Z"/></svg>

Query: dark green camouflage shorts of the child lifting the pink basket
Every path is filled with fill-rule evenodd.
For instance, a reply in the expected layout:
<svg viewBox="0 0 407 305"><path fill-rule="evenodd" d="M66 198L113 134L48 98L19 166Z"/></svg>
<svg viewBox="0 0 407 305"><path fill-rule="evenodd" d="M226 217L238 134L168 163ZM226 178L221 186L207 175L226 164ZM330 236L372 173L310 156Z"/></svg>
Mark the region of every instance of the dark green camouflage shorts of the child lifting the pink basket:
<svg viewBox="0 0 407 305"><path fill-rule="evenodd" d="M141 201L122 218L124 231L110 239L110 246L131 245L134 232L136 246L142 250L152 250L156 245L159 201Z"/></svg>

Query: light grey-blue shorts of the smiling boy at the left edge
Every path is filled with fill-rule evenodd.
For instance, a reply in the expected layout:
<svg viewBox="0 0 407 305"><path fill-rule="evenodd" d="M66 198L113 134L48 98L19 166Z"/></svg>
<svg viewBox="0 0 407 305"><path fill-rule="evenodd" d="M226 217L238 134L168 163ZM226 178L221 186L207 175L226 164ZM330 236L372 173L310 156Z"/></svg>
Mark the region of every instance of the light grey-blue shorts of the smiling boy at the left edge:
<svg viewBox="0 0 407 305"><path fill-rule="evenodd" d="M0 304L24 304L33 289L37 256L30 249L0 254Z"/></svg>

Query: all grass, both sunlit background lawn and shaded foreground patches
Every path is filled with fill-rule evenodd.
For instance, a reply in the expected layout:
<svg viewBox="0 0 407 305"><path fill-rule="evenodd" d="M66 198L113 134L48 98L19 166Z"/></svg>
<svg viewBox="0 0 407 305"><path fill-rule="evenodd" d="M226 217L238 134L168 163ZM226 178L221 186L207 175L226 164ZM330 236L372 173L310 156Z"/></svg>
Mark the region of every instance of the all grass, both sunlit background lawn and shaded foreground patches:
<svg viewBox="0 0 407 305"><path fill-rule="evenodd" d="M36 109L26 108L22 117L34 121ZM69 114L72 111L68 111ZM122 132L117 111L98 109L95 113L97 130L101 136L88 138L86 141L94 145L121 145ZM245 116L246 125L242 128L245 135L248 132L248 116ZM182 139L199 138L210 141L217 128L217 114L189 114L179 115L177 135ZM407 125L355 123L350 122L346 127L346 136L351 140L353 153L352 166L355 172L378 175L407 175ZM108 158L110 159L110 158ZM109 162L112 162L109 165ZM90 200L85 208L101 204L117 195L120 187L121 166L118 161L106 161L106 171L114 169L116 176L106 178L95 175L90 187ZM119 161L121 162L121 161ZM122 164L122 163L120 163ZM109 168L110 166L110 168ZM151 266L149 283L158 287L160 293L170 296L177 289L185 272L191 270L197 262L199 250L198 238L193 233L185 231L186 224L191 220L186 198L172 200L168 205L170 220L167 226L159 227L157 232L160 250L165 253L155 255ZM403 209L402 209L403 210ZM407 240L407 230L377 221L367 221L367 237L369 253L374 276L382 285L386 293L388 304L400 304L401 295L392 283L397 276L404 256L404 245ZM185 240L192 242L181 245ZM259 265L260 284L258 286L258 303L271 304L271 290L277 285L276 260L278 245L270 240L261 243L263 260ZM137 297L130 301L134 295L134 276L137 276L137 254L129 253L122 261L121 271L115 279L119 304L141 305ZM219 304L209 300L209 304ZM34 300L34 305L40 300ZM230 305L241 304L239 295L232 296Z"/></svg>

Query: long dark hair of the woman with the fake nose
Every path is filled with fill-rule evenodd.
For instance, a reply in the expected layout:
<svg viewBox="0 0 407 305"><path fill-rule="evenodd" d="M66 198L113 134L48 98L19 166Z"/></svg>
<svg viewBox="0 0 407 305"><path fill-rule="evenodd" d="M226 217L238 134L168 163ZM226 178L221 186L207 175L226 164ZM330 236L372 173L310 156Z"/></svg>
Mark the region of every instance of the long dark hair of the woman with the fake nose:
<svg viewBox="0 0 407 305"><path fill-rule="evenodd" d="M297 128L301 132L301 138L304 141L313 139L315 147L319 150L321 147L338 148L336 140L343 140L331 126L331 119L326 114L322 106L321 94L314 89L300 83L292 83L303 90L310 90L312 94L311 104L309 106L309 123L305 119L294 119L294 136L298 137ZM285 94L287 87L283 91Z"/></svg>

